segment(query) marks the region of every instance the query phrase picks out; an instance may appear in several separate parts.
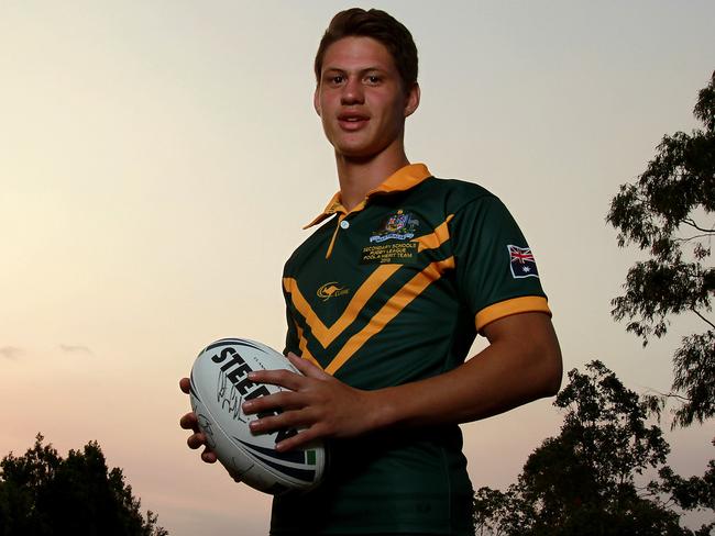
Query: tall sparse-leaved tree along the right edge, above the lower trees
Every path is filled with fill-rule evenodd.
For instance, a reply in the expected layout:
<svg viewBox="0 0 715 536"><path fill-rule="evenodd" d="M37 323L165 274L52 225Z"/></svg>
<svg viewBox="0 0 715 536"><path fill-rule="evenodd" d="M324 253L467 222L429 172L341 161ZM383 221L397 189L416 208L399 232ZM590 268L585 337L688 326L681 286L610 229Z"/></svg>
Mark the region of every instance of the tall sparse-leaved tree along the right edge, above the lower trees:
<svg viewBox="0 0 715 536"><path fill-rule="evenodd" d="M612 301L614 317L627 319L626 330L644 345L666 335L672 315L691 313L704 324L673 356L680 426L715 415L715 321L708 317L715 297L715 72L694 115L703 129L666 135L638 181L620 187L606 216L620 247L635 244L649 255L628 270L625 293Z"/></svg>

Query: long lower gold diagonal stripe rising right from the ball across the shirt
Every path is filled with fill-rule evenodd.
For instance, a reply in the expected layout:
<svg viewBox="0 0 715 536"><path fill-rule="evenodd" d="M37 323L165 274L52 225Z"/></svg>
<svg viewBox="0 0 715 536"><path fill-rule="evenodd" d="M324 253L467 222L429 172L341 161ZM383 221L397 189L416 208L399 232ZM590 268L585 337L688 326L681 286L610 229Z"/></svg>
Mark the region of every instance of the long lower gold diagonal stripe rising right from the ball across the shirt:
<svg viewBox="0 0 715 536"><path fill-rule="evenodd" d="M334 375L370 338L380 333L397 314L422 291L442 277L448 268L454 268L454 257L430 264L393 295L370 320L370 323L350 337L334 359L326 367L326 372Z"/></svg>

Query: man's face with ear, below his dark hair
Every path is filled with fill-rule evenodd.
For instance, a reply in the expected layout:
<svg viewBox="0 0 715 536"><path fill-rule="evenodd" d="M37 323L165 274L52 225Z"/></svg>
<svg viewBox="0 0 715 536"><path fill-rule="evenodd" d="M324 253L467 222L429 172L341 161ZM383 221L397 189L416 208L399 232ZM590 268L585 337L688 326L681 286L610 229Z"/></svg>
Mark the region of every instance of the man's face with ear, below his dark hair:
<svg viewBox="0 0 715 536"><path fill-rule="evenodd" d="M419 104L385 46L371 37L344 37L328 47L315 107L338 156L372 158L403 152L405 118Z"/></svg>

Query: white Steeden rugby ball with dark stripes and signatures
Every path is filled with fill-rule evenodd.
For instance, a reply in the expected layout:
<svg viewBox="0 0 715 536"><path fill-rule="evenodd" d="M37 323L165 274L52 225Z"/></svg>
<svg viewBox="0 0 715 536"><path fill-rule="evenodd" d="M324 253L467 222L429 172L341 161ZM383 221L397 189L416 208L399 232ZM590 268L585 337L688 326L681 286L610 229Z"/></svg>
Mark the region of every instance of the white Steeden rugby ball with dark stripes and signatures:
<svg viewBox="0 0 715 536"><path fill-rule="evenodd" d="M297 434L297 429L254 434L249 428L249 423L258 416L244 414L243 402L285 389L253 383L248 373L276 369L300 373L283 354L264 344L222 338L199 353L191 367L189 392L199 428L229 473L274 495L315 488L326 468L321 443L288 453L275 449L278 442Z"/></svg>

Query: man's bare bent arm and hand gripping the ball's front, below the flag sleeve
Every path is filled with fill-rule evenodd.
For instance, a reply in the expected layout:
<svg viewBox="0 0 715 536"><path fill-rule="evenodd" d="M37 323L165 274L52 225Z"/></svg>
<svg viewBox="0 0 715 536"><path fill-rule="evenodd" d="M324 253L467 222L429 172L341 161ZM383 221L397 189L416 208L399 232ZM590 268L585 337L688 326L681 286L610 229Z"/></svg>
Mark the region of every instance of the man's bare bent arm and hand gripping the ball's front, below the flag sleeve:
<svg viewBox="0 0 715 536"><path fill-rule="evenodd" d="M276 446L289 450L318 438L346 438L386 427L477 421L558 392L561 351L547 314L514 314L487 324L483 332L490 346L460 367L374 391L352 388L289 355L305 376L251 372L252 381L290 391L245 402L243 409L246 413L283 409L277 416L253 421L256 433L305 427Z"/></svg>

